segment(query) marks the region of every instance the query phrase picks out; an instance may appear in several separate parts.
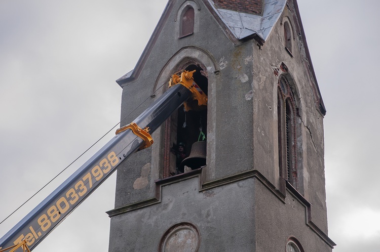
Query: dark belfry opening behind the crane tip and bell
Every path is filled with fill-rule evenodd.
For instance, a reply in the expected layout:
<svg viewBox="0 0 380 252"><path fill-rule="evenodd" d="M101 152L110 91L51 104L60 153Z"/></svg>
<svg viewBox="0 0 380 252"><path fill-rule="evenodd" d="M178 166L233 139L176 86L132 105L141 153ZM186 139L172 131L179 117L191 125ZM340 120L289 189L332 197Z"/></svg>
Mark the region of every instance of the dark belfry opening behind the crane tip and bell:
<svg viewBox="0 0 380 252"><path fill-rule="evenodd" d="M197 70L194 81L207 95L208 80L202 67L193 64L185 70ZM207 107L200 111L185 111L184 106L180 106L166 123L164 178L187 172L189 168L183 167L181 162L190 156L193 144L202 140L207 140Z"/></svg>

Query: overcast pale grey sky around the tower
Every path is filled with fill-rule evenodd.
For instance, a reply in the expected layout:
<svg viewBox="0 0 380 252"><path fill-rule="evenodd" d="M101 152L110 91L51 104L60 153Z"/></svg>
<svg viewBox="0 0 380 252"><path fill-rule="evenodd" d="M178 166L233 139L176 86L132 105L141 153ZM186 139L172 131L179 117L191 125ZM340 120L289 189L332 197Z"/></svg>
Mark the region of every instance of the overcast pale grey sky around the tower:
<svg viewBox="0 0 380 252"><path fill-rule="evenodd" d="M1 220L118 123L122 89L115 80L134 68L165 5L0 0ZM380 2L298 5L327 109L329 237L338 244L333 251L379 251ZM0 237L87 157L1 224ZM115 175L33 251L107 251L104 212L113 208Z"/></svg>

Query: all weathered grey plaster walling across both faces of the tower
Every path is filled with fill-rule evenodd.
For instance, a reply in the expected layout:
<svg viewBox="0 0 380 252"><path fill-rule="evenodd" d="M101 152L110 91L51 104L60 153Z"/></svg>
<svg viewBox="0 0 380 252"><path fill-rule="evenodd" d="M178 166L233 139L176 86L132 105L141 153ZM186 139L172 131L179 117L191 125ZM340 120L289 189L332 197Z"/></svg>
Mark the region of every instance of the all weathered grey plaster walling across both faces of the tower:
<svg viewBox="0 0 380 252"><path fill-rule="evenodd" d="M235 41L204 2L196 0L188 1L192 5L197 4L194 34L178 39L177 10L183 8L183 3L184 1L169 2L165 22L146 61L141 65L140 74L123 85L122 124L129 123L156 99L150 98L150 94L156 92L156 97L162 94L165 88L161 85L179 66L188 60L198 61L206 66L209 79L207 166L202 171L202 182L217 181L254 169L280 188L277 149L278 76L274 70L278 70L281 63L284 63L288 68L287 74L295 80L299 94L299 113L302 119L299 122L302 125L302 142L299 145L302 146L302 155L298 160L302 168L298 174L300 192L312 204L313 222L327 233L323 115L316 105L318 97L313 91L314 79L300 37L294 36L294 58L284 49L283 27L280 22L262 47L258 47L253 39ZM283 13L283 16L290 17L297 34L298 24L294 15L293 11L287 9ZM147 100L142 106L124 119L145 98ZM158 196L155 181L162 178L163 129L157 130L153 138L155 144L152 147L123 161L118 169L116 207ZM248 251L254 251L251 244L255 242L257 251L271 251L265 250L270 236L272 239L280 237L279 240L274 239L276 241L272 241L273 247L270 247L277 251L285 248L290 235L297 237L302 245L309 243L305 247L310 248L309 251L322 251L317 248L326 247L326 243L306 225L305 206L298 204L298 201L293 204L294 198L288 192L285 192L284 204L253 178L204 192L198 192L197 183L198 178L164 186L161 203L113 216L109 250L123 251L130 247L131 251L150 251L151 248L157 248L168 227L183 221L192 222L201 230L201 251L218 250L215 248L224 250L228 244L222 240L223 236L228 237L235 246L234 249L225 249L226 251L247 251L247 248ZM226 188L234 188L234 197L224 193L230 192ZM216 205L221 207L220 210ZM246 216L243 216L237 206L246 210ZM237 217L243 219L235 218L235 212L238 213ZM274 218L268 220L269 217ZM223 222L230 218L233 221ZM242 223L242 220L247 223ZM279 223L281 221L283 222ZM239 241L233 233L240 232L235 230L235 223L242 225L247 232L242 234ZM279 230L275 230L276 226L279 226ZM220 236L216 232L219 229L224 230ZM259 230L259 233L254 230Z"/></svg>

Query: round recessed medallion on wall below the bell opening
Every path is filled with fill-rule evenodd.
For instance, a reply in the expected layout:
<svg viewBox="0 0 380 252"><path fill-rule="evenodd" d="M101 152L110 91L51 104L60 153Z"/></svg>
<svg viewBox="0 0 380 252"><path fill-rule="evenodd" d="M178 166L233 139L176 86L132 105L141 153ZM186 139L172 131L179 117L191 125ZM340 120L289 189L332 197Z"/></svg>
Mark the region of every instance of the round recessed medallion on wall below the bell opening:
<svg viewBox="0 0 380 252"><path fill-rule="evenodd" d="M200 234L197 227L188 222L171 226L162 236L160 252L196 252L200 246Z"/></svg>

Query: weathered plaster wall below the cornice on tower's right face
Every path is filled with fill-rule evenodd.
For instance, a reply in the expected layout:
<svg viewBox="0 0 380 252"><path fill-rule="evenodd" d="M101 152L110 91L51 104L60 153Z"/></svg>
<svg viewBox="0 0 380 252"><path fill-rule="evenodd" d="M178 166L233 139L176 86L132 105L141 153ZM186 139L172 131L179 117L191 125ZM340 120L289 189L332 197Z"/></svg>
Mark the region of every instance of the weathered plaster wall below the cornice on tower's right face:
<svg viewBox="0 0 380 252"><path fill-rule="evenodd" d="M287 193L284 204L263 184L254 186L256 252L285 251L286 242L296 237L305 251L331 251L331 248L306 227L306 207Z"/></svg>

